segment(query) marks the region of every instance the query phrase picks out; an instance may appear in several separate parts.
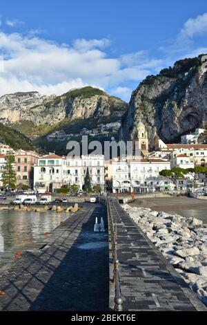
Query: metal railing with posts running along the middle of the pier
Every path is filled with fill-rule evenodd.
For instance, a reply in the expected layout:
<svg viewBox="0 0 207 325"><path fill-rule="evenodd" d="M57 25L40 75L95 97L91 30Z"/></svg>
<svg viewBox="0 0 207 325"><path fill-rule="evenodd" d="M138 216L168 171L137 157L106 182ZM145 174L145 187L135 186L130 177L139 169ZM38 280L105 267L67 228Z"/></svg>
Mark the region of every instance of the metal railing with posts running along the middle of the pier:
<svg viewBox="0 0 207 325"><path fill-rule="evenodd" d="M107 211L109 221L109 236L110 236L110 250L112 252L112 264L113 264L113 279L112 284L115 285L115 306L114 310L122 311L123 300L121 297L121 284L119 277L119 259L117 257L117 223L113 221L110 211L110 203L107 199Z"/></svg>

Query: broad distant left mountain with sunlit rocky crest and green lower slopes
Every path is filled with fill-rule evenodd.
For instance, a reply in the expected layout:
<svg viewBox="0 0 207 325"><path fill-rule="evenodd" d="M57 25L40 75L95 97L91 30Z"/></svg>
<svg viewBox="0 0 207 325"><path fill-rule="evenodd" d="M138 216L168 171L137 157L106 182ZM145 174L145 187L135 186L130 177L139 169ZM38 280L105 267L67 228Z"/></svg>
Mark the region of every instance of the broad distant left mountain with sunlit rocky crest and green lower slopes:
<svg viewBox="0 0 207 325"><path fill-rule="evenodd" d="M28 136L46 151L66 154L69 140L117 138L128 104L90 86L63 95L37 92L0 97L0 122Z"/></svg>

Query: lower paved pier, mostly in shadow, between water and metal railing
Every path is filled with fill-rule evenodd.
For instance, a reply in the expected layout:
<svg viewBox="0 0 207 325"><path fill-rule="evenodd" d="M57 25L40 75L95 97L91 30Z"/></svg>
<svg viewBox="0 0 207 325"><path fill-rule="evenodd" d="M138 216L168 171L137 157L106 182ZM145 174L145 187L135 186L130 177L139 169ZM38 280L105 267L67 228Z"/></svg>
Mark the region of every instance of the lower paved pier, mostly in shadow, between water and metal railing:
<svg viewBox="0 0 207 325"><path fill-rule="evenodd" d="M106 207L84 204L0 277L0 310L108 310L108 235L94 233Z"/></svg>

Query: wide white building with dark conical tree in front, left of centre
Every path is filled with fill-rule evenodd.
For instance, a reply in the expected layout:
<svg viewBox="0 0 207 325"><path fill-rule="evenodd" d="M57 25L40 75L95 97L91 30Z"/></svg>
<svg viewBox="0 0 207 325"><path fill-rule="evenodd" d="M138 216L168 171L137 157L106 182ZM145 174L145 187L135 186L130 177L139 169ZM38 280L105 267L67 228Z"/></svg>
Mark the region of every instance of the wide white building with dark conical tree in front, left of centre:
<svg viewBox="0 0 207 325"><path fill-rule="evenodd" d="M77 185L83 189L89 170L91 187L99 185L104 191L104 156L60 157L49 154L39 158L34 166L34 189L54 192L62 185Z"/></svg>

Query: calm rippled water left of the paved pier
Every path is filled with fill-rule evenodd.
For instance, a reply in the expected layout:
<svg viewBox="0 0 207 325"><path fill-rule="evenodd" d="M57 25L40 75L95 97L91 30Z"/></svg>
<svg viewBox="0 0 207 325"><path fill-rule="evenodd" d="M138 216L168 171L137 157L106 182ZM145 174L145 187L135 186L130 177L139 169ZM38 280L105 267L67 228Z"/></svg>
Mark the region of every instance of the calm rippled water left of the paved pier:
<svg viewBox="0 0 207 325"><path fill-rule="evenodd" d="M66 214L55 212L0 211L0 271L14 259L17 251L41 247L45 232L51 232L66 220Z"/></svg>

